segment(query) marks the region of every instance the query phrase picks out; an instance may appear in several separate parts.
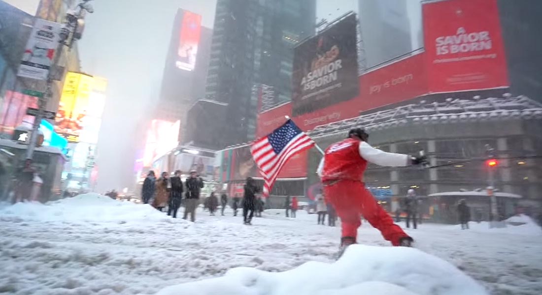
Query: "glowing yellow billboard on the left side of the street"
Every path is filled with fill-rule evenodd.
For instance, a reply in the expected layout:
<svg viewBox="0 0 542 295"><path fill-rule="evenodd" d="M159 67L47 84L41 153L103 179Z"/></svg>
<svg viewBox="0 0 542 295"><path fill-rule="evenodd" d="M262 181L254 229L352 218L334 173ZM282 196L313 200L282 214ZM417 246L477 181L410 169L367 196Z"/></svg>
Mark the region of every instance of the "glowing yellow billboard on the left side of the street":
<svg viewBox="0 0 542 295"><path fill-rule="evenodd" d="M79 142L89 108L93 77L81 73L68 72L56 112L55 132L62 134L68 142Z"/></svg>

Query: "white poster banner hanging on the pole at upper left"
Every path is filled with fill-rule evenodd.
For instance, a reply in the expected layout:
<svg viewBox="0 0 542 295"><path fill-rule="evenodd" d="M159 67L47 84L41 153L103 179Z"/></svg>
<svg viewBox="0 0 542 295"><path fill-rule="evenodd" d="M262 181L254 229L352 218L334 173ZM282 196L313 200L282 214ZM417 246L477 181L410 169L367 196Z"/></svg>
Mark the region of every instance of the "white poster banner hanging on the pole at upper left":
<svg viewBox="0 0 542 295"><path fill-rule="evenodd" d="M18 76L46 80L59 43L61 24L36 18L24 48Z"/></svg>

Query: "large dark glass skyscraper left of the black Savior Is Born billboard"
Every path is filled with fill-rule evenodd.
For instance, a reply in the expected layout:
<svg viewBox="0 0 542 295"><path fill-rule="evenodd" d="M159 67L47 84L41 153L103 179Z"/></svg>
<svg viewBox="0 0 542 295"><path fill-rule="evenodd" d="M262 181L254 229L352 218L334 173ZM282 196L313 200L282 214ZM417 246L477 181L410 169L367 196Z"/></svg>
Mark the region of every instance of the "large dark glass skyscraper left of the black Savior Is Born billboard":
<svg viewBox="0 0 542 295"><path fill-rule="evenodd" d="M313 35L315 0L218 0L207 76L208 99L228 103L219 146L254 138L257 94L291 99L293 48Z"/></svg>

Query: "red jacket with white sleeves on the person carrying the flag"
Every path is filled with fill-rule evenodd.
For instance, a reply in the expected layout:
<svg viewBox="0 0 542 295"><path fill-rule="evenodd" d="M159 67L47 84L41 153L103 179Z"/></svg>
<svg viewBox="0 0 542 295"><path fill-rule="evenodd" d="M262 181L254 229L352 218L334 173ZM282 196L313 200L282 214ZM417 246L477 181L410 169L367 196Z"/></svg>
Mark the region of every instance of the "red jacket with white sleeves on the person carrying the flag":
<svg viewBox="0 0 542 295"><path fill-rule="evenodd" d="M409 159L408 155L386 153L371 147L367 142L349 138L326 149L318 167L318 175L322 181L363 181L367 162L380 166L407 166Z"/></svg>

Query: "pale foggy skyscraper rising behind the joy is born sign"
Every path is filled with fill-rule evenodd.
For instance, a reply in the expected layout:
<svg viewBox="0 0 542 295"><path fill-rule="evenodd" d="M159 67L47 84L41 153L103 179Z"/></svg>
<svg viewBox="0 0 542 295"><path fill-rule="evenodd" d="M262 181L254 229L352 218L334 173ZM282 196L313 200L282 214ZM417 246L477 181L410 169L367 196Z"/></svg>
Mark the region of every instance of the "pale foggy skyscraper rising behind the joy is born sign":
<svg viewBox="0 0 542 295"><path fill-rule="evenodd" d="M367 67L412 50L406 0L358 0Z"/></svg>

